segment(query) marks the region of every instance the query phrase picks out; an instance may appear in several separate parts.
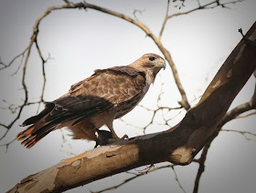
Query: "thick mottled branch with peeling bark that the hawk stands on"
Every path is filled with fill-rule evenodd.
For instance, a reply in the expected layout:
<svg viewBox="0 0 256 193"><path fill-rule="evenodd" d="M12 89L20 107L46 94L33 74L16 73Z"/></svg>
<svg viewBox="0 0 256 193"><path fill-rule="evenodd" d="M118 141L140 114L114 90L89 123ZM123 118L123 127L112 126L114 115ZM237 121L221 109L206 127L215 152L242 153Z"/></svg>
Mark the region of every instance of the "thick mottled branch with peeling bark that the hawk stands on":
<svg viewBox="0 0 256 193"><path fill-rule="evenodd" d="M240 41L197 106L188 110L176 127L92 149L71 164L61 162L30 175L9 192L59 192L148 164L164 161L177 165L191 163L256 68L256 23L246 37L251 40L251 45Z"/></svg>

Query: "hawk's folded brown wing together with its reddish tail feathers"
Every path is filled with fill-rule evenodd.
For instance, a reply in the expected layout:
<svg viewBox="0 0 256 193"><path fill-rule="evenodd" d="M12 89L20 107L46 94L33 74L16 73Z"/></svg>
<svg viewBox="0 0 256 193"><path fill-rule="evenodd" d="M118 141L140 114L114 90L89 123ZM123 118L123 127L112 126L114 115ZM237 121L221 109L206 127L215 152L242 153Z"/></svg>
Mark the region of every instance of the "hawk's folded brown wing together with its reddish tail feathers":
<svg viewBox="0 0 256 193"><path fill-rule="evenodd" d="M116 66L95 70L95 73L70 87L69 93L46 105L37 116L28 118L23 126L34 124L18 134L27 147L34 146L60 124L93 117L101 112L120 107L123 103L144 96L144 73L132 66ZM125 107L129 110L129 107ZM130 110L129 110L130 111ZM119 116L120 117L120 116Z"/></svg>

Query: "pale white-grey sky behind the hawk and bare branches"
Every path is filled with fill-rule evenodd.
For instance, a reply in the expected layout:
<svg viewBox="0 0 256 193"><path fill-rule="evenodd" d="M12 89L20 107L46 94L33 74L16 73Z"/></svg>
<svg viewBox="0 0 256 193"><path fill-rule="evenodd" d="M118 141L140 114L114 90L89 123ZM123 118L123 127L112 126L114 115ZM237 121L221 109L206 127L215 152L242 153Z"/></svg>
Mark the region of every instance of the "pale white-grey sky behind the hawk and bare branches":
<svg viewBox="0 0 256 193"><path fill-rule="evenodd" d="M187 0L188 1L188 0ZM181 11L193 6L194 1ZM207 1L209 2L209 1ZM158 1L90 1L133 17L133 10L144 10L137 17L158 35L165 17L165 0ZM28 45L32 27L39 15L49 6L63 4L62 1L32 1L9 0L0 2L0 56L8 63ZM241 39L238 29L248 31L256 20L256 1L245 0L237 5L229 5L231 9L215 8L198 11L190 15L181 15L169 20L162 37L164 46L170 51L176 63L187 97L191 102L201 96L219 66L225 61L234 46ZM176 9L170 8L170 13ZM48 15L39 26L38 44L43 56L48 53L54 59L46 65L47 87L45 100L54 100L65 94L69 86L81 79L91 76L95 68L121 66L132 63L145 53L161 55L158 48L149 37L138 27L131 25L111 15L104 15L93 10L61 10ZM162 56L162 55L161 55ZM8 70L0 72L1 101L20 104L24 96L20 90L21 70L16 76L18 62ZM36 101L40 96L42 86L41 63L35 47L27 66L27 86L30 100ZM161 105L177 107L180 100L173 76L169 68L161 71L155 85L151 87L142 104L145 107L156 107L156 98L165 83ZM255 80L253 77L235 99L232 107L247 102L253 92ZM193 102L196 105L196 102ZM1 102L0 107L7 107ZM16 137L23 127L18 127L27 117L36 114L37 107L26 107L21 118L0 144ZM11 120L9 111L1 110L1 123L8 124ZM136 126L148 123L150 114L140 107L136 108L123 119ZM177 111L165 117L174 117ZM158 115L160 117L160 115ZM184 113L170 121L174 126ZM247 130L255 133L254 117L232 121L225 128ZM158 120L161 123L161 120ZM167 127L155 124L146 133L165 130ZM114 123L118 135L128 134L129 137L142 135L142 130L123 125L116 120ZM0 130L0 136L4 130ZM67 131L64 131L67 136ZM70 157L69 152L80 154L91 149L94 144L84 141L74 141L68 137L68 142L62 145L59 131L52 132L42 139L36 147L25 149L18 142L13 143L8 152L0 147L0 192L12 188L22 178L48 168L63 158ZM256 168L254 163L255 141L247 141L236 133L222 132L213 142L208 152L206 172L203 174L199 192L255 192ZM162 164L163 165L163 164ZM156 165L160 166L160 165ZM197 164L187 167L176 167L180 182L191 192L197 174ZM122 182L127 178L123 174L102 179L83 188L75 188L67 192L90 192L101 190ZM112 192L182 192L178 187L174 172L171 169L159 170L143 178L137 178L122 188Z"/></svg>

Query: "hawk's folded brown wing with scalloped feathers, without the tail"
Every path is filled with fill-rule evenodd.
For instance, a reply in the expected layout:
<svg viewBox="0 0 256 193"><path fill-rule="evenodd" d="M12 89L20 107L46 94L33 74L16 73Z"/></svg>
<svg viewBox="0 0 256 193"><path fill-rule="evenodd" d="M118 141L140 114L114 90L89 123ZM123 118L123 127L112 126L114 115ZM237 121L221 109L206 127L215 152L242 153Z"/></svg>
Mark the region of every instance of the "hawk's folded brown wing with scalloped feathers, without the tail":
<svg viewBox="0 0 256 193"><path fill-rule="evenodd" d="M54 101L47 120L69 115L92 117L133 98L144 89L145 77L130 66L96 70L91 77L71 86L69 93ZM70 119L69 118L69 119Z"/></svg>

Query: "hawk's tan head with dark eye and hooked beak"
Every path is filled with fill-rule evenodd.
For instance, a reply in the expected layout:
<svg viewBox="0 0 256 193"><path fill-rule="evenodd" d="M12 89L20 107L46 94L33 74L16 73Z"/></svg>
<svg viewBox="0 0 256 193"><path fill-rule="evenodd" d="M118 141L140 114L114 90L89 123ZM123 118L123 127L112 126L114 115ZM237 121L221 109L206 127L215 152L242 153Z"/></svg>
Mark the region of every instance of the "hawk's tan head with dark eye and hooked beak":
<svg viewBox="0 0 256 193"><path fill-rule="evenodd" d="M134 68L144 72L147 76L148 83L150 84L155 81L155 76L157 75L157 73L162 68L165 69L166 64L163 57L150 53L141 56L130 66L133 66Z"/></svg>

